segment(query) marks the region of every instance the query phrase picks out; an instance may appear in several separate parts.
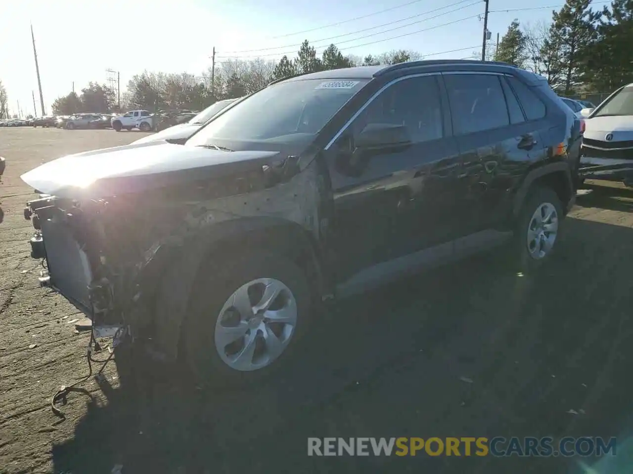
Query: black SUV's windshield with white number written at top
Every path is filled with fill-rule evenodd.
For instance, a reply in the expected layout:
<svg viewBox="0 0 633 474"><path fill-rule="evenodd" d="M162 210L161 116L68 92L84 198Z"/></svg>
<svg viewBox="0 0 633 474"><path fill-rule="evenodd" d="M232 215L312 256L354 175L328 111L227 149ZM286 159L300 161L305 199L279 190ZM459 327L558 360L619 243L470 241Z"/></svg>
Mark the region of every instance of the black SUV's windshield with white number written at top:
<svg viewBox="0 0 633 474"><path fill-rule="evenodd" d="M316 135L368 80L304 79L263 88L213 119L189 145ZM289 137L288 137L289 138Z"/></svg>

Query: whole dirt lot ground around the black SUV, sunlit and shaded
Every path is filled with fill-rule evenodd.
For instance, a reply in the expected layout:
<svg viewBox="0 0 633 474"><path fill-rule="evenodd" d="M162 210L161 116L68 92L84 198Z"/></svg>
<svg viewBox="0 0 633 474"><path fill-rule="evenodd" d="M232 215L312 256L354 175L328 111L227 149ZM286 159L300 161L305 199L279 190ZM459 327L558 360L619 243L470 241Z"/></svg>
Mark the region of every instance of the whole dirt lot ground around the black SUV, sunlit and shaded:
<svg viewBox="0 0 633 474"><path fill-rule="evenodd" d="M487 257L344 301L320 315L286 379L205 394L168 368L87 373L85 332L37 288L32 190L20 174L139 133L0 129L0 472L620 471L631 462L633 191L590 186L537 277ZM35 344L35 346L34 346ZM105 354L96 355L102 357ZM570 410L572 410L570 412ZM309 458L306 438L617 436L615 458ZM608 464L606 464L608 461ZM615 465L614 465L615 463ZM114 470L113 470L114 469ZM614 470L615 469L615 470Z"/></svg>

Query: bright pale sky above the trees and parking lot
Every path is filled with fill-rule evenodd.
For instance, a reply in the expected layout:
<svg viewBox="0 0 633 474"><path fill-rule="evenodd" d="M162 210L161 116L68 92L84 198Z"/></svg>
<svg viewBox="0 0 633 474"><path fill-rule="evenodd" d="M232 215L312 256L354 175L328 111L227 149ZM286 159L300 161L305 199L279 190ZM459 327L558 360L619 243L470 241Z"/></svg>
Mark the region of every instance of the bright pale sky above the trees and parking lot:
<svg viewBox="0 0 633 474"><path fill-rule="evenodd" d="M551 7L558 9L563 1L491 0L494 13L489 16L488 29L492 41L496 33L505 33L513 18L532 25L549 21ZM105 82L107 68L120 71L122 88L132 75L144 69L200 74L211 66L213 46L218 61L253 56L273 60L284 53L294 56L304 39L310 40L318 52L332 42L344 54L358 56L391 49L413 49L425 55L459 49L429 58L465 58L481 49L483 21L477 15L484 13L484 2L457 2L0 0L0 80L7 89L11 111L19 100L24 114L32 113L31 92L35 91L41 113L30 22L35 30L47 112L56 97L70 92L73 82L77 91L91 80ZM596 8L603 6L597 4L598 0L594 2ZM405 3L410 4L393 8ZM389 8L393 9L327 26ZM499 11L512 9L521 10ZM419 16L404 20L413 15ZM397 20L403 21L373 28ZM413 22L418 23L410 25ZM450 22L455 23L442 26ZM373 29L360 31L366 28ZM426 31L420 31L423 29ZM401 37L389 39L396 36ZM367 44L370 42L373 44ZM265 50L242 52L253 49Z"/></svg>

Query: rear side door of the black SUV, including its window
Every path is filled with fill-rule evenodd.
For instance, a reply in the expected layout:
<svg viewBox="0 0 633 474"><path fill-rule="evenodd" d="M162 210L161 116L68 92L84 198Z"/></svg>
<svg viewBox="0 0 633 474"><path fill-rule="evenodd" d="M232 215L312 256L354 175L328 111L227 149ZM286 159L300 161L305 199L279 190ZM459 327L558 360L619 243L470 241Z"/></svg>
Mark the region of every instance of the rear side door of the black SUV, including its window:
<svg viewBox="0 0 633 474"><path fill-rule="evenodd" d="M468 236L503 222L513 185L542 154L542 141L505 76L455 72L443 77L461 155L460 233Z"/></svg>

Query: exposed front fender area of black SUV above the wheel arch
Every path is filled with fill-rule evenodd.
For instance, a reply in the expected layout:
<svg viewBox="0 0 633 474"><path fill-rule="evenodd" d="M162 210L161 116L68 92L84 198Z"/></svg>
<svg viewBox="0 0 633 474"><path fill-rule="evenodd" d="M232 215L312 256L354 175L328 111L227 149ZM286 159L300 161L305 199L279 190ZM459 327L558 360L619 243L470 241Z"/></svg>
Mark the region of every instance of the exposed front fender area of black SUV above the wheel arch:
<svg viewBox="0 0 633 474"><path fill-rule="evenodd" d="M115 205L104 213L104 229L111 230L101 259L116 275L108 282L115 295L110 310L120 313L134 337L151 338L154 349L174 358L191 288L211 250L280 222L301 229L318 246L327 237L324 189L313 161L301 172L263 169L260 175L154 195L144 199L149 209L137 218L127 212L132 202ZM129 252L129 242L138 253Z"/></svg>

